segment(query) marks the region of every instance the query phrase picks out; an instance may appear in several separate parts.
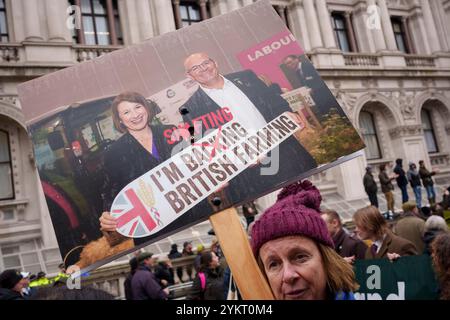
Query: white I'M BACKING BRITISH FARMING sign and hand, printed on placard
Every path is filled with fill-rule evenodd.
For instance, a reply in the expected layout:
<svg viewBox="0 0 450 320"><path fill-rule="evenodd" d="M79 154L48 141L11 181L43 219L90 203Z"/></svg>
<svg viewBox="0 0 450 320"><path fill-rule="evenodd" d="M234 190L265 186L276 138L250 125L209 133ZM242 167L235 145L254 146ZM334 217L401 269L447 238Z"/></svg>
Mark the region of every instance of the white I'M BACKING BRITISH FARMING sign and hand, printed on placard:
<svg viewBox="0 0 450 320"><path fill-rule="evenodd" d="M290 113L255 133L239 122L225 124L219 134L216 130L129 183L111 207L117 231L141 238L162 230L301 128ZM211 145L221 147L210 150ZM105 228L114 225L107 213L102 218Z"/></svg>

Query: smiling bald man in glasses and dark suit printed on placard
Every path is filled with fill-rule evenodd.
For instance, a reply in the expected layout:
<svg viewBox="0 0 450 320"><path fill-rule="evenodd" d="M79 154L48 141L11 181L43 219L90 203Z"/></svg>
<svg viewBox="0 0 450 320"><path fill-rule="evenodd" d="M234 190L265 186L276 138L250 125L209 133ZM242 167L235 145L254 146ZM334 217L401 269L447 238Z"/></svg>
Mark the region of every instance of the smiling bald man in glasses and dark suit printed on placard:
<svg viewBox="0 0 450 320"><path fill-rule="evenodd" d="M293 113L286 100L270 90L253 71L244 70L221 75L216 61L206 53L194 53L184 61L186 74L200 86L197 91L180 107L183 120L193 125L201 121L202 132L217 127L211 120L213 113L226 110L232 119L239 121L247 130L258 130L284 112L300 123L301 118ZM231 117L229 117L231 118ZM264 191L276 190L281 183L291 180L301 173L317 167L314 158L297 142L289 137L272 151L271 164L278 167L272 175L261 175L261 165L248 168L231 182L246 185L241 188L228 188L231 200L242 203ZM239 189L239 190L235 190ZM235 191L238 191L236 194ZM234 194L233 194L234 193ZM247 201L245 201L247 202Z"/></svg>

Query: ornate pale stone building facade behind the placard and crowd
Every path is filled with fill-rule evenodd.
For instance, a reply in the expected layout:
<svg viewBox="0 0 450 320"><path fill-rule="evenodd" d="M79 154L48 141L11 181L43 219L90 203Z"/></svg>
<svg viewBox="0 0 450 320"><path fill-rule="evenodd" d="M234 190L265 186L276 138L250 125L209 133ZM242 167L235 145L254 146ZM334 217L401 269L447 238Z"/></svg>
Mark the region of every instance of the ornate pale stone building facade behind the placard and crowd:
<svg viewBox="0 0 450 320"><path fill-rule="evenodd" d="M0 270L54 272L61 261L16 86L251 3L0 0ZM440 197L450 181L450 0L271 3L368 145L364 156L311 178L325 206L349 218L367 203L367 163L396 158L438 169Z"/></svg>

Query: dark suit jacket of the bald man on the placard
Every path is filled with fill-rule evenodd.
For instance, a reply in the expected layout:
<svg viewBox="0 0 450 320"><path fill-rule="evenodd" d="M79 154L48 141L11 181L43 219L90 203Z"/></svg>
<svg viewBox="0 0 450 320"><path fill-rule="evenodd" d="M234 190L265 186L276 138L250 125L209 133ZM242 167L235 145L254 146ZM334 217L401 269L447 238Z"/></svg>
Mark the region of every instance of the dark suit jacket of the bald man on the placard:
<svg viewBox="0 0 450 320"><path fill-rule="evenodd" d="M236 85L255 105L264 119L269 122L286 111L292 111L280 95L269 89L252 71L240 71L224 76ZM220 109L201 88L180 107L183 120L192 124L192 120ZM249 117L252 115L249 114ZM203 127L203 132L206 128ZM317 167L314 158L294 138L289 137L279 147L279 171L276 175L260 175L260 167L248 168L234 178L228 189L228 196L234 204L241 204L255 196L281 187L283 182L295 179L301 173ZM239 185L240 188L237 188Z"/></svg>

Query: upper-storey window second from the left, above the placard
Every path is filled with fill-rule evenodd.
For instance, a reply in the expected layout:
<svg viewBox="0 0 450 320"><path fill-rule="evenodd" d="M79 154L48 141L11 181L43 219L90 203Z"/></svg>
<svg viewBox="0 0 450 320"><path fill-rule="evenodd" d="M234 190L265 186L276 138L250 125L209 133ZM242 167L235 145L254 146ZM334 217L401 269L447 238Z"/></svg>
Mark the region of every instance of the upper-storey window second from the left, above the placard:
<svg viewBox="0 0 450 320"><path fill-rule="evenodd" d="M81 29L72 32L75 43L123 44L117 0L72 0L70 3L81 8Z"/></svg>

